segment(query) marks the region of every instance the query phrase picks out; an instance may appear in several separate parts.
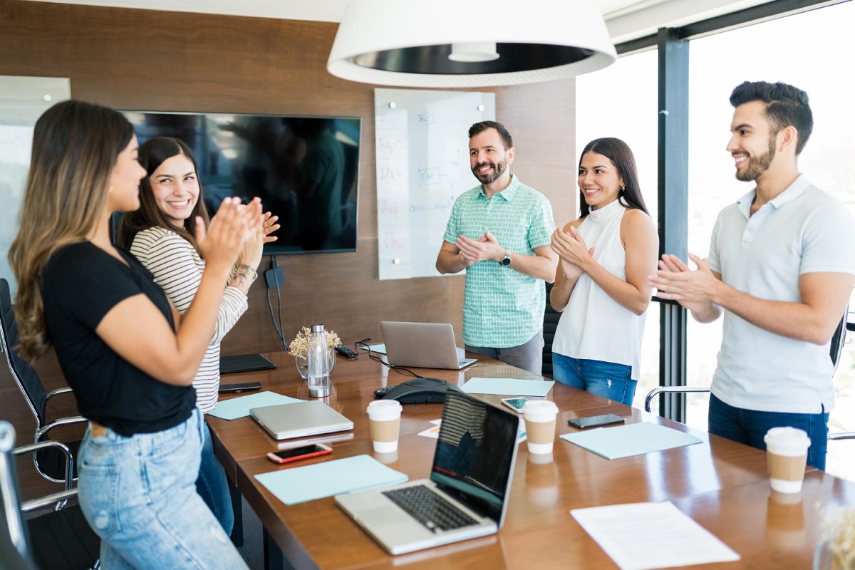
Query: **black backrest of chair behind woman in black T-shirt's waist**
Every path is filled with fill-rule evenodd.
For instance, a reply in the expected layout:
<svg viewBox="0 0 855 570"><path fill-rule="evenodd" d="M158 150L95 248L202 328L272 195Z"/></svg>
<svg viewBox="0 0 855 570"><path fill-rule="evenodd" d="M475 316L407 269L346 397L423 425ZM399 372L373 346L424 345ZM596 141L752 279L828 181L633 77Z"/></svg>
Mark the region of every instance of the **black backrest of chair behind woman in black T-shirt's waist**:
<svg viewBox="0 0 855 570"><path fill-rule="evenodd" d="M15 313L12 311L12 294L9 291L9 281L0 279L0 342L3 343L3 354L9 364L9 372L18 383L32 414L38 421L38 429L44 426L45 411L48 396L44 390L42 379L36 369L28 361L18 356L15 346L18 344L18 326L15 324Z"/></svg>

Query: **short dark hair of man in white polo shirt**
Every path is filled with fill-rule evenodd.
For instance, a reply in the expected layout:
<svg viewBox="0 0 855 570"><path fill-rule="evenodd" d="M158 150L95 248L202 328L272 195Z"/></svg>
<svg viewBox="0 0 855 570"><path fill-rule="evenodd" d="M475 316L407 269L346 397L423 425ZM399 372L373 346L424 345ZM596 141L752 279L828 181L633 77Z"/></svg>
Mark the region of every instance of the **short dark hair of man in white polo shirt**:
<svg viewBox="0 0 855 570"><path fill-rule="evenodd" d="M799 132L796 142L796 154L800 155L811 138L813 131L813 113L808 103L807 93L786 83L768 81L746 81L737 85L730 94L730 104L739 107L743 103L763 101L766 103L766 116L769 117L777 134L787 126L794 126Z"/></svg>

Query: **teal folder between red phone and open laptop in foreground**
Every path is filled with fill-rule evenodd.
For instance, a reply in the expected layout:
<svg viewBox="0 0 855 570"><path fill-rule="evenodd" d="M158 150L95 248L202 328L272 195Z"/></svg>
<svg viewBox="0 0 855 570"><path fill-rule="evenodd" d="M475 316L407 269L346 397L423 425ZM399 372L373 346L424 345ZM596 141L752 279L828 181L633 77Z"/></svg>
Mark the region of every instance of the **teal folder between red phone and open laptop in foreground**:
<svg viewBox="0 0 855 570"><path fill-rule="evenodd" d="M256 475L256 479L281 502L293 505L340 493L406 483L407 476L370 455L355 455L262 473Z"/></svg>

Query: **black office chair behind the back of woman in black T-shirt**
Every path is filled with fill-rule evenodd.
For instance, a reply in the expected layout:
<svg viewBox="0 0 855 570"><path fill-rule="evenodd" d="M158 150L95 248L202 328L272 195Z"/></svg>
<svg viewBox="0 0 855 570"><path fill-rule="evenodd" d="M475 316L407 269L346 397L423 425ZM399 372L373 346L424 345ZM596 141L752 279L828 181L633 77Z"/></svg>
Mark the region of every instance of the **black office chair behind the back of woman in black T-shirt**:
<svg viewBox="0 0 855 570"><path fill-rule="evenodd" d="M35 368L28 361L18 356L18 352L14 348L15 344L18 343L18 326L15 324L15 314L12 312L12 296L9 292L9 282L6 279L0 279L0 343L3 344L3 354L6 356L6 363L9 365L9 373L12 374L12 378L15 379L18 388L21 389L21 393L27 400L27 406L36 419L34 438L36 443L42 441L47 433L57 426L67 426L86 421L83 416L75 415L48 422L47 407L50 398L59 394L71 393L71 388L59 388L51 391L50 394L47 393ZM72 455L77 455L80 441L67 442L67 445ZM53 483L63 481L65 461L62 453L57 452L56 448L49 446L44 450L39 450L37 454L33 455L33 462L36 470L44 479ZM71 462L71 465L74 467L74 461Z"/></svg>

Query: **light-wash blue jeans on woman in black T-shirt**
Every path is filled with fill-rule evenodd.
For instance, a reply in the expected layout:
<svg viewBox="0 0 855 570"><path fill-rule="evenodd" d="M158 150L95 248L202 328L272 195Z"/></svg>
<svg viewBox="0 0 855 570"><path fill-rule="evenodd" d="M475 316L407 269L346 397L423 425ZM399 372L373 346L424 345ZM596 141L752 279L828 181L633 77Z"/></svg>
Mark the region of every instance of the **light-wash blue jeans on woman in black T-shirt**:
<svg viewBox="0 0 855 570"><path fill-rule="evenodd" d="M113 430L80 444L80 508L101 538L104 570L246 568L196 492L202 414L156 433Z"/></svg>

